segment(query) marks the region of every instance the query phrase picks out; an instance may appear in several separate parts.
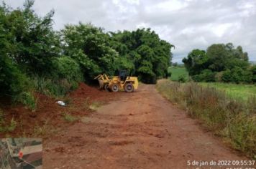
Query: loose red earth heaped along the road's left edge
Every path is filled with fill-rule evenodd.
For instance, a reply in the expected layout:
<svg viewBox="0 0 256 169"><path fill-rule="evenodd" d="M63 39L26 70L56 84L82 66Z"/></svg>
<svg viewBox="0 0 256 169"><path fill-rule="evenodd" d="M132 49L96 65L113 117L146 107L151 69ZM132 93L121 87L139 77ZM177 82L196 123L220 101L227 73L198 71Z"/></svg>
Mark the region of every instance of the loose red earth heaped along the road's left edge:
<svg viewBox="0 0 256 169"><path fill-rule="evenodd" d="M118 97L120 93L106 92L98 90L96 87L90 87L81 83L77 90L70 92L64 99L70 102L67 106L58 105L54 98L36 94L37 110L32 112L23 105L12 105L11 102L0 102L1 110L4 112L4 121L10 123L12 119L17 122L13 132L0 132L0 137L32 137L40 136L40 127L54 127L55 129L65 127L72 123L63 120L63 113L68 112L72 115L88 115L89 110L86 105L92 102L108 102ZM45 131L42 131L45 132Z"/></svg>

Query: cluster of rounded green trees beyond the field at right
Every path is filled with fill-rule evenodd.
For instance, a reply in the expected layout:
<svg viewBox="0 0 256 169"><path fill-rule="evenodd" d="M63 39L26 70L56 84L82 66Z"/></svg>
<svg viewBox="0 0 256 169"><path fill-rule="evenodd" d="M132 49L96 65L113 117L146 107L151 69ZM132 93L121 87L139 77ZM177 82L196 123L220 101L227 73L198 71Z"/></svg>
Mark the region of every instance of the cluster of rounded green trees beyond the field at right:
<svg viewBox="0 0 256 169"><path fill-rule="evenodd" d="M232 43L212 44L206 51L193 49L183 63L196 82L256 82L256 66L248 62L241 46Z"/></svg>

